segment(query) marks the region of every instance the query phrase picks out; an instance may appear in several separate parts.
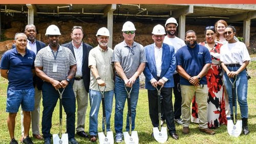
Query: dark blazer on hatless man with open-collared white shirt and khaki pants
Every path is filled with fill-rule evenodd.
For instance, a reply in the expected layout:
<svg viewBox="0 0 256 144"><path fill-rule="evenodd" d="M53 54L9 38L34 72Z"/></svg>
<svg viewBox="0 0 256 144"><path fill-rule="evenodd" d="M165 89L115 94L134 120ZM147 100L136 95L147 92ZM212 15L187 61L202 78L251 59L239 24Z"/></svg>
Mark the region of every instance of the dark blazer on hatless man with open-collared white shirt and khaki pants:
<svg viewBox="0 0 256 144"><path fill-rule="evenodd" d="M74 57L75 57L75 53L74 53L74 47L73 47L73 44L72 44L72 41L71 42L68 42L68 43L65 43L65 44L62 44L61 46L65 46L65 47L68 47ZM83 79L83 84L84 84L84 87L86 88L86 91L89 92L89 86L90 86L90 68L88 66L88 57L89 57L89 52L93 49L93 47L89 44L86 44L86 43L82 43L82 79ZM73 85L74 84L74 78L70 81L70 83Z"/></svg>

